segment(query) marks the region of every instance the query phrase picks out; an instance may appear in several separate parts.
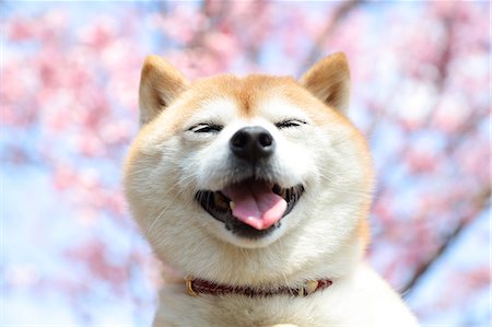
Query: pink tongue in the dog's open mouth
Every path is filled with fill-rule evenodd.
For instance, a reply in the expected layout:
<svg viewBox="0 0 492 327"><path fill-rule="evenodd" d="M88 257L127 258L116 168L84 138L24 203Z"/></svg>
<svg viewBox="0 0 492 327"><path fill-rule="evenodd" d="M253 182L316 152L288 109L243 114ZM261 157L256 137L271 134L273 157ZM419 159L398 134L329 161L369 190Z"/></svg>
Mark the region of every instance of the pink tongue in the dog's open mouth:
<svg viewBox="0 0 492 327"><path fill-rule="evenodd" d="M244 182L227 186L222 192L235 207L233 215L257 230L266 230L278 222L286 209L286 201L263 182Z"/></svg>

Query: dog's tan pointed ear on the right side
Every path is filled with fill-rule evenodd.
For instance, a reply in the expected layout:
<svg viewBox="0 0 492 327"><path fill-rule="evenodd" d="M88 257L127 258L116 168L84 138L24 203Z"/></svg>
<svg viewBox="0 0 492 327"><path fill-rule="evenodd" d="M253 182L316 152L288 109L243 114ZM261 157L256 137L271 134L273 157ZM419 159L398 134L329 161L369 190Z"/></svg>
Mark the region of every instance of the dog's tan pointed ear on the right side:
<svg viewBox="0 0 492 327"><path fill-rule="evenodd" d="M350 70L345 55L338 52L315 63L301 84L326 105L345 114L350 102Z"/></svg>

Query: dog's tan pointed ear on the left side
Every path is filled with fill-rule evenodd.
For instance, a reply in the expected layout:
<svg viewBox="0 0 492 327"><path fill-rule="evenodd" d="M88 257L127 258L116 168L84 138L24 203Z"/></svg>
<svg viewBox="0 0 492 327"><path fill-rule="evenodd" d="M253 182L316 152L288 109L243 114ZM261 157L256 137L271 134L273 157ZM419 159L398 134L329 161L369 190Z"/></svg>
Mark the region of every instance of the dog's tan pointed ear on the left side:
<svg viewBox="0 0 492 327"><path fill-rule="evenodd" d="M185 77L159 56L148 56L140 75L140 125L154 119L187 85Z"/></svg>

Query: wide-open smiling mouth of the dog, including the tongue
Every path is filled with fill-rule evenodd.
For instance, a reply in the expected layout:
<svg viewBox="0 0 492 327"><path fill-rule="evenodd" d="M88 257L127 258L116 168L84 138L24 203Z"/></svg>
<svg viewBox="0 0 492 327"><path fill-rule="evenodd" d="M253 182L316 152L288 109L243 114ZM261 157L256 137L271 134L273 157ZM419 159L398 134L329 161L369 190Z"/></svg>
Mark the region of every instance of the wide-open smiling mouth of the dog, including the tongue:
<svg viewBox="0 0 492 327"><path fill-rule="evenodd" d="M213 218L233 233L257 238L280 226L294 209L304 187L281 188L278 184L245 179L220 191L199 190L195 198Z"/></svg>

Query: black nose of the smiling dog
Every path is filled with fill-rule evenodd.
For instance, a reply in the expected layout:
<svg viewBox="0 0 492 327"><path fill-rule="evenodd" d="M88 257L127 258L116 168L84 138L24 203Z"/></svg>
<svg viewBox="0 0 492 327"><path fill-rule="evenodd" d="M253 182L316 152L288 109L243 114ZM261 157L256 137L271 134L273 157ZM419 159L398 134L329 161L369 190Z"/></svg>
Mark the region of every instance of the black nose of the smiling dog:
<svg viewBox="0 0 492 327"><path fill-rule="evenodd" d="M237 157L255 162L273 153L276 140L265 128L250 126L236 131L229 147Z"/></svg>

